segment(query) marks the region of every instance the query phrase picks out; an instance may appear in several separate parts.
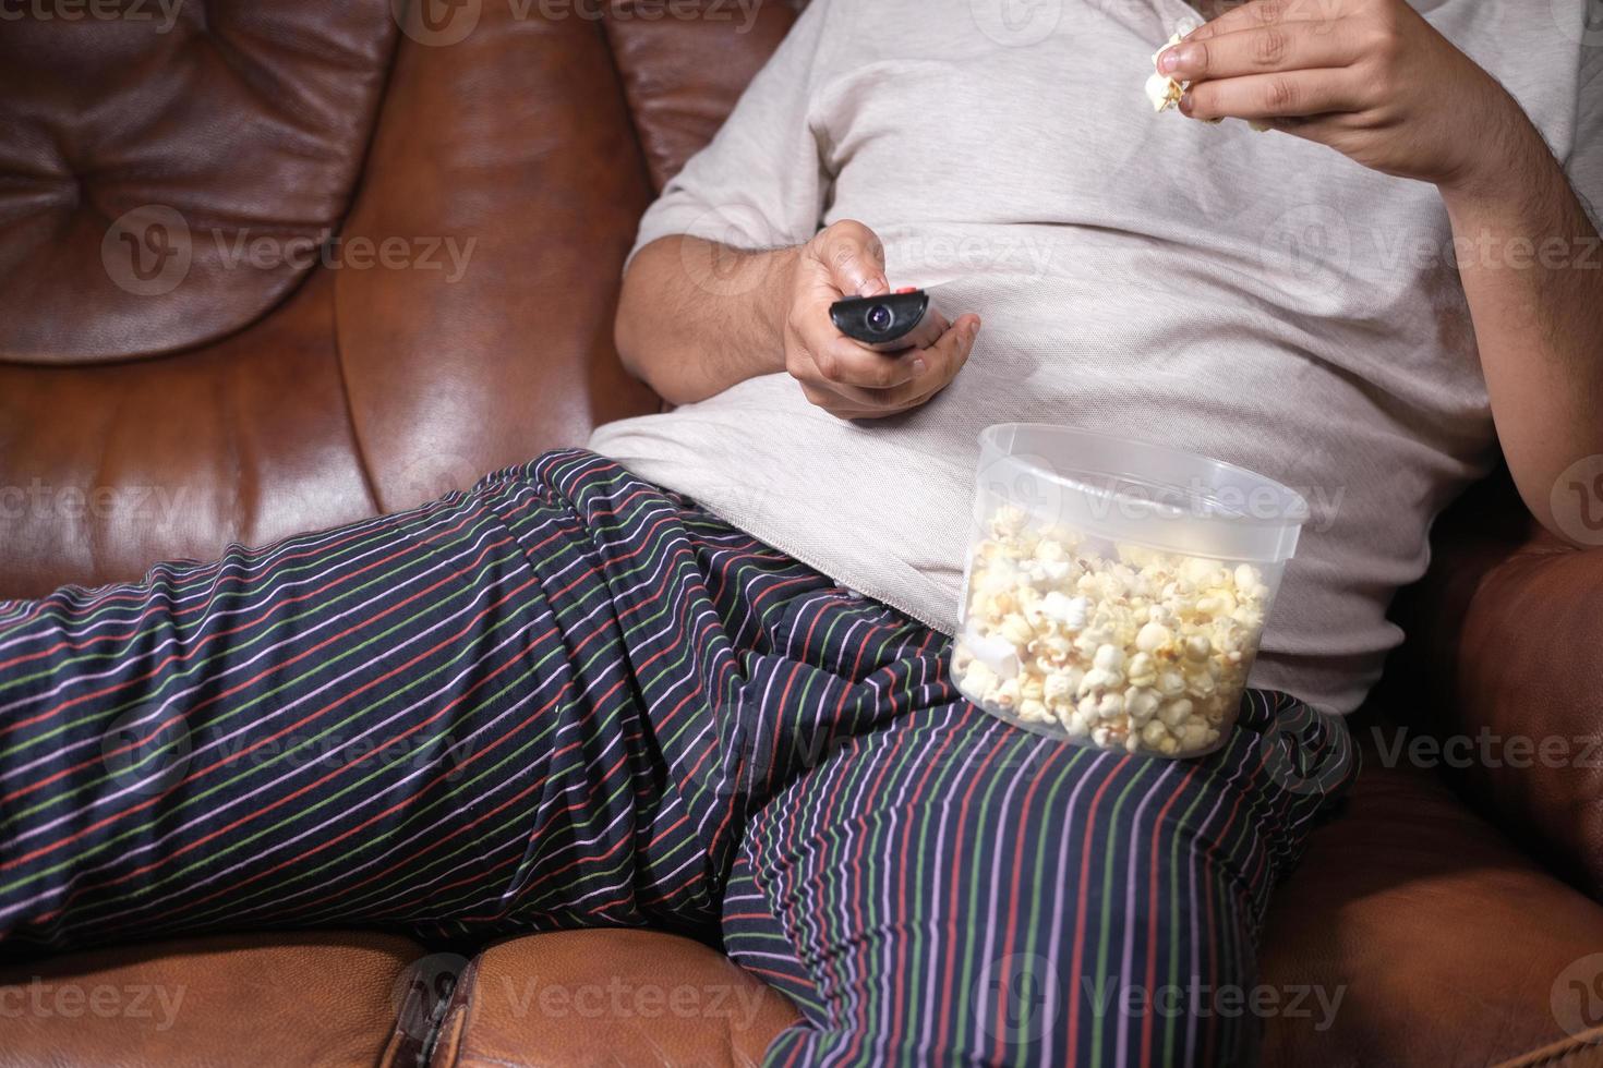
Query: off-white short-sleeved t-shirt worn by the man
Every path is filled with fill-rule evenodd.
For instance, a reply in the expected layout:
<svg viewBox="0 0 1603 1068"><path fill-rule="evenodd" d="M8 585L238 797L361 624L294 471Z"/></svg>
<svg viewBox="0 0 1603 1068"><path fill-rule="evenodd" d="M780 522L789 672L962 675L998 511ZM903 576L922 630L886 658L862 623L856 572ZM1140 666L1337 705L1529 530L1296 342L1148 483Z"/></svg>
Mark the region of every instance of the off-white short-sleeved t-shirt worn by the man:
<svg viewBox="0 0 1603 1068"><path fill-rule="evenodd" d="M1603 27L1585 6L1415 3L1598 202ZM771 375L590 447L947 632L984 426L1247 466L1313 512L1252 684L1353 709L1401 640L1385 612L1423 573L1433 517L1496 458L1451 231L1427 184L1154 115L1149 56L1181 18L1180 0L813 0L636 248L793 245L861 219L891 285L983 317L973 357L896 418L835 420Z"/></svg>

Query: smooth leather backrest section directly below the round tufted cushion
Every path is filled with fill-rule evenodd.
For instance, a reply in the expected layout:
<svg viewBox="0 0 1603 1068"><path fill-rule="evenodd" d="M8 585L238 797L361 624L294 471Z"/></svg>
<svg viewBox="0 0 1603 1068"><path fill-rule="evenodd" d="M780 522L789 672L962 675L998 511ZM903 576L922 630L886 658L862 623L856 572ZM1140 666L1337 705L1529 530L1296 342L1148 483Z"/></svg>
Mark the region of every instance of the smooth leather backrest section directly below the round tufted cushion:
<svg viewBox="0 0 1603 1068"><path fill-rule="evenodd" d="M131 363L0 363L0 597L135 578L375 511L319 272L250 330ZM48 413L42 418L42 413Z"/></svg>

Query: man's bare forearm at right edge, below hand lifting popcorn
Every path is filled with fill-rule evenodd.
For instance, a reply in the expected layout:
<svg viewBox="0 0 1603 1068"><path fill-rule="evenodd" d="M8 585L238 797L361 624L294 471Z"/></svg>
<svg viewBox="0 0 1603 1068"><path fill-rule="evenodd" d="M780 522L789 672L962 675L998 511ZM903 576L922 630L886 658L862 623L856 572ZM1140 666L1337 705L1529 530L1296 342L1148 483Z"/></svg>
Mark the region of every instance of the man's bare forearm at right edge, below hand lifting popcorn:
<svg viewBox="0 0 1603 1068"><path fill-rule="evenodd" d="M1496 162L1441 192L1504 455L1526 504L1555 528L1555 480L1603 453L1603 251L1524 115L1489 130Z"/></svg>

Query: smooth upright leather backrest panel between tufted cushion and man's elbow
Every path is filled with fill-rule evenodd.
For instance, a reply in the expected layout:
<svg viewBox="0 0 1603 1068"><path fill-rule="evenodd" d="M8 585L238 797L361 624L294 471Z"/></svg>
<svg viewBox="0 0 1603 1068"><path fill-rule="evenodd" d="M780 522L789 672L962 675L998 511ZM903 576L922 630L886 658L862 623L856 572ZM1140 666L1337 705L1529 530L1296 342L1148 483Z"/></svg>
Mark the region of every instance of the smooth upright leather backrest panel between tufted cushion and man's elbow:
<svg viewBox="0 0 1603 1068"><path fill-rule="evenodd" d="M542 16L561 5L516 18L523 6L478 6L450 45L406 38L373 181L345 231L438 240L446 266L332 272L354 432L383 509L657 405L612 351L617 280L651 191L606 35L595 19Z"/></svg>

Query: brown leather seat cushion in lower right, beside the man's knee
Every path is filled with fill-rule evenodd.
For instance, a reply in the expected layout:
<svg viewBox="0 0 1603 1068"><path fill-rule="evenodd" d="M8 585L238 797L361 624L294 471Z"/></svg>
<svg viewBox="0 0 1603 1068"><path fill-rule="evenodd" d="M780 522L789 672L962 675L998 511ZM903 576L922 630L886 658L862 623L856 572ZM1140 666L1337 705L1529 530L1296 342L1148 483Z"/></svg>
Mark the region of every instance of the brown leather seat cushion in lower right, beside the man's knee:
<svg viewBox="0 0 1603 1068"><path fill-rule="evenodd" d="M1600 951L1603 908L1371 746L1270 906L1263 1063L1603 1065Z"/></svg>

